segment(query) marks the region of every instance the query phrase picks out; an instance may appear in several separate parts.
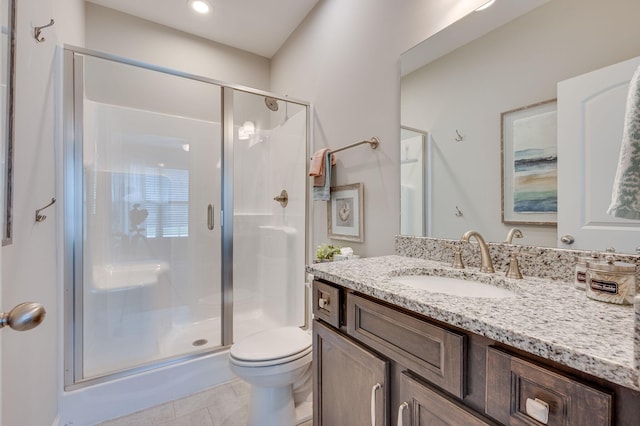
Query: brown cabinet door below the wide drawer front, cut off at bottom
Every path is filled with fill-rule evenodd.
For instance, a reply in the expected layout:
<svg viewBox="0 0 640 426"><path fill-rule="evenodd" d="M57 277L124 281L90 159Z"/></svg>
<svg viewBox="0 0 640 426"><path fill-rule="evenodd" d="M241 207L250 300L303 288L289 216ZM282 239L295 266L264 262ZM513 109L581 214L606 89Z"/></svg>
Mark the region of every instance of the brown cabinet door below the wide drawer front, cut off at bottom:
<svg viewBox="0 0 640 426"><path fill-rule="evenodd" d="M398 426L481 426L496 423L463 406L444 393L411 377L400 378Z"/></svg>

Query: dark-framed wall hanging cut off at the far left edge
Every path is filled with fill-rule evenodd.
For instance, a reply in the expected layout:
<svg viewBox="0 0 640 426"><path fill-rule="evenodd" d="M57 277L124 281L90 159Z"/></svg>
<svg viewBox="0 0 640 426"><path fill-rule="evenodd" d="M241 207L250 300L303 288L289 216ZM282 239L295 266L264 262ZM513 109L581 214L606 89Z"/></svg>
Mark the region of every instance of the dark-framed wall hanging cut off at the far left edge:
<svg viewBox="0 0 640 426"><path fill-rule="evenodd" d="M0 0L0 25L2 42L0 43L0 127L2 142L0 149L2 165L2 202L0 211L2 220L2 245L11 244L12 227L12 188L13 188L13 99L15 80L15 3L14 0Z"/></svg>

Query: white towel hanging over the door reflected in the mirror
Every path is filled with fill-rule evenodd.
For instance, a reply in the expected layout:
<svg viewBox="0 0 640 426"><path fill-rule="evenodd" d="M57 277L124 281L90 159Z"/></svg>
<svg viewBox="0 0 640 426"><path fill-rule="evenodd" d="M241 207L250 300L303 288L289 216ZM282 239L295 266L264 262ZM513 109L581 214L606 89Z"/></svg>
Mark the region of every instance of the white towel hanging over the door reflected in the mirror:
<svg viewBox="0 0 640 426"><path fill-rule="evenodd" d="M620 159L607 213L640 219L640 67L629 83Z"/></svg>

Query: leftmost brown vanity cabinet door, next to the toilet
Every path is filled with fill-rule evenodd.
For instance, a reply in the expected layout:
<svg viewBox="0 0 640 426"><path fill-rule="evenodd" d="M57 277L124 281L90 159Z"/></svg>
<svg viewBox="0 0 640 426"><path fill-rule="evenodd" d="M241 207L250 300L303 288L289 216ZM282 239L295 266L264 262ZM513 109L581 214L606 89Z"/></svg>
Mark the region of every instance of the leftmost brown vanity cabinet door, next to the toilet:
<svg viewBox="0 0 640 426"><path fill-rule="evenodd" d="M389 424L389 363L313 321L314 426Z"/></svg>

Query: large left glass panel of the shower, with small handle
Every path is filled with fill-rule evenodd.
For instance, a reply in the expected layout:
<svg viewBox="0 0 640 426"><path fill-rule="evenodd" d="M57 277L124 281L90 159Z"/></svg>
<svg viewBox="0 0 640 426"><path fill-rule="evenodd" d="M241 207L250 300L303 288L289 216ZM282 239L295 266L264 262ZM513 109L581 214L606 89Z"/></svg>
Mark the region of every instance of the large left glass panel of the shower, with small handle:
<svg viewBox="0 0 640 426"><path fill-rule="evenodd" d="M80 380L221 346L221 87L92 56L74 68Z"/></svg>

